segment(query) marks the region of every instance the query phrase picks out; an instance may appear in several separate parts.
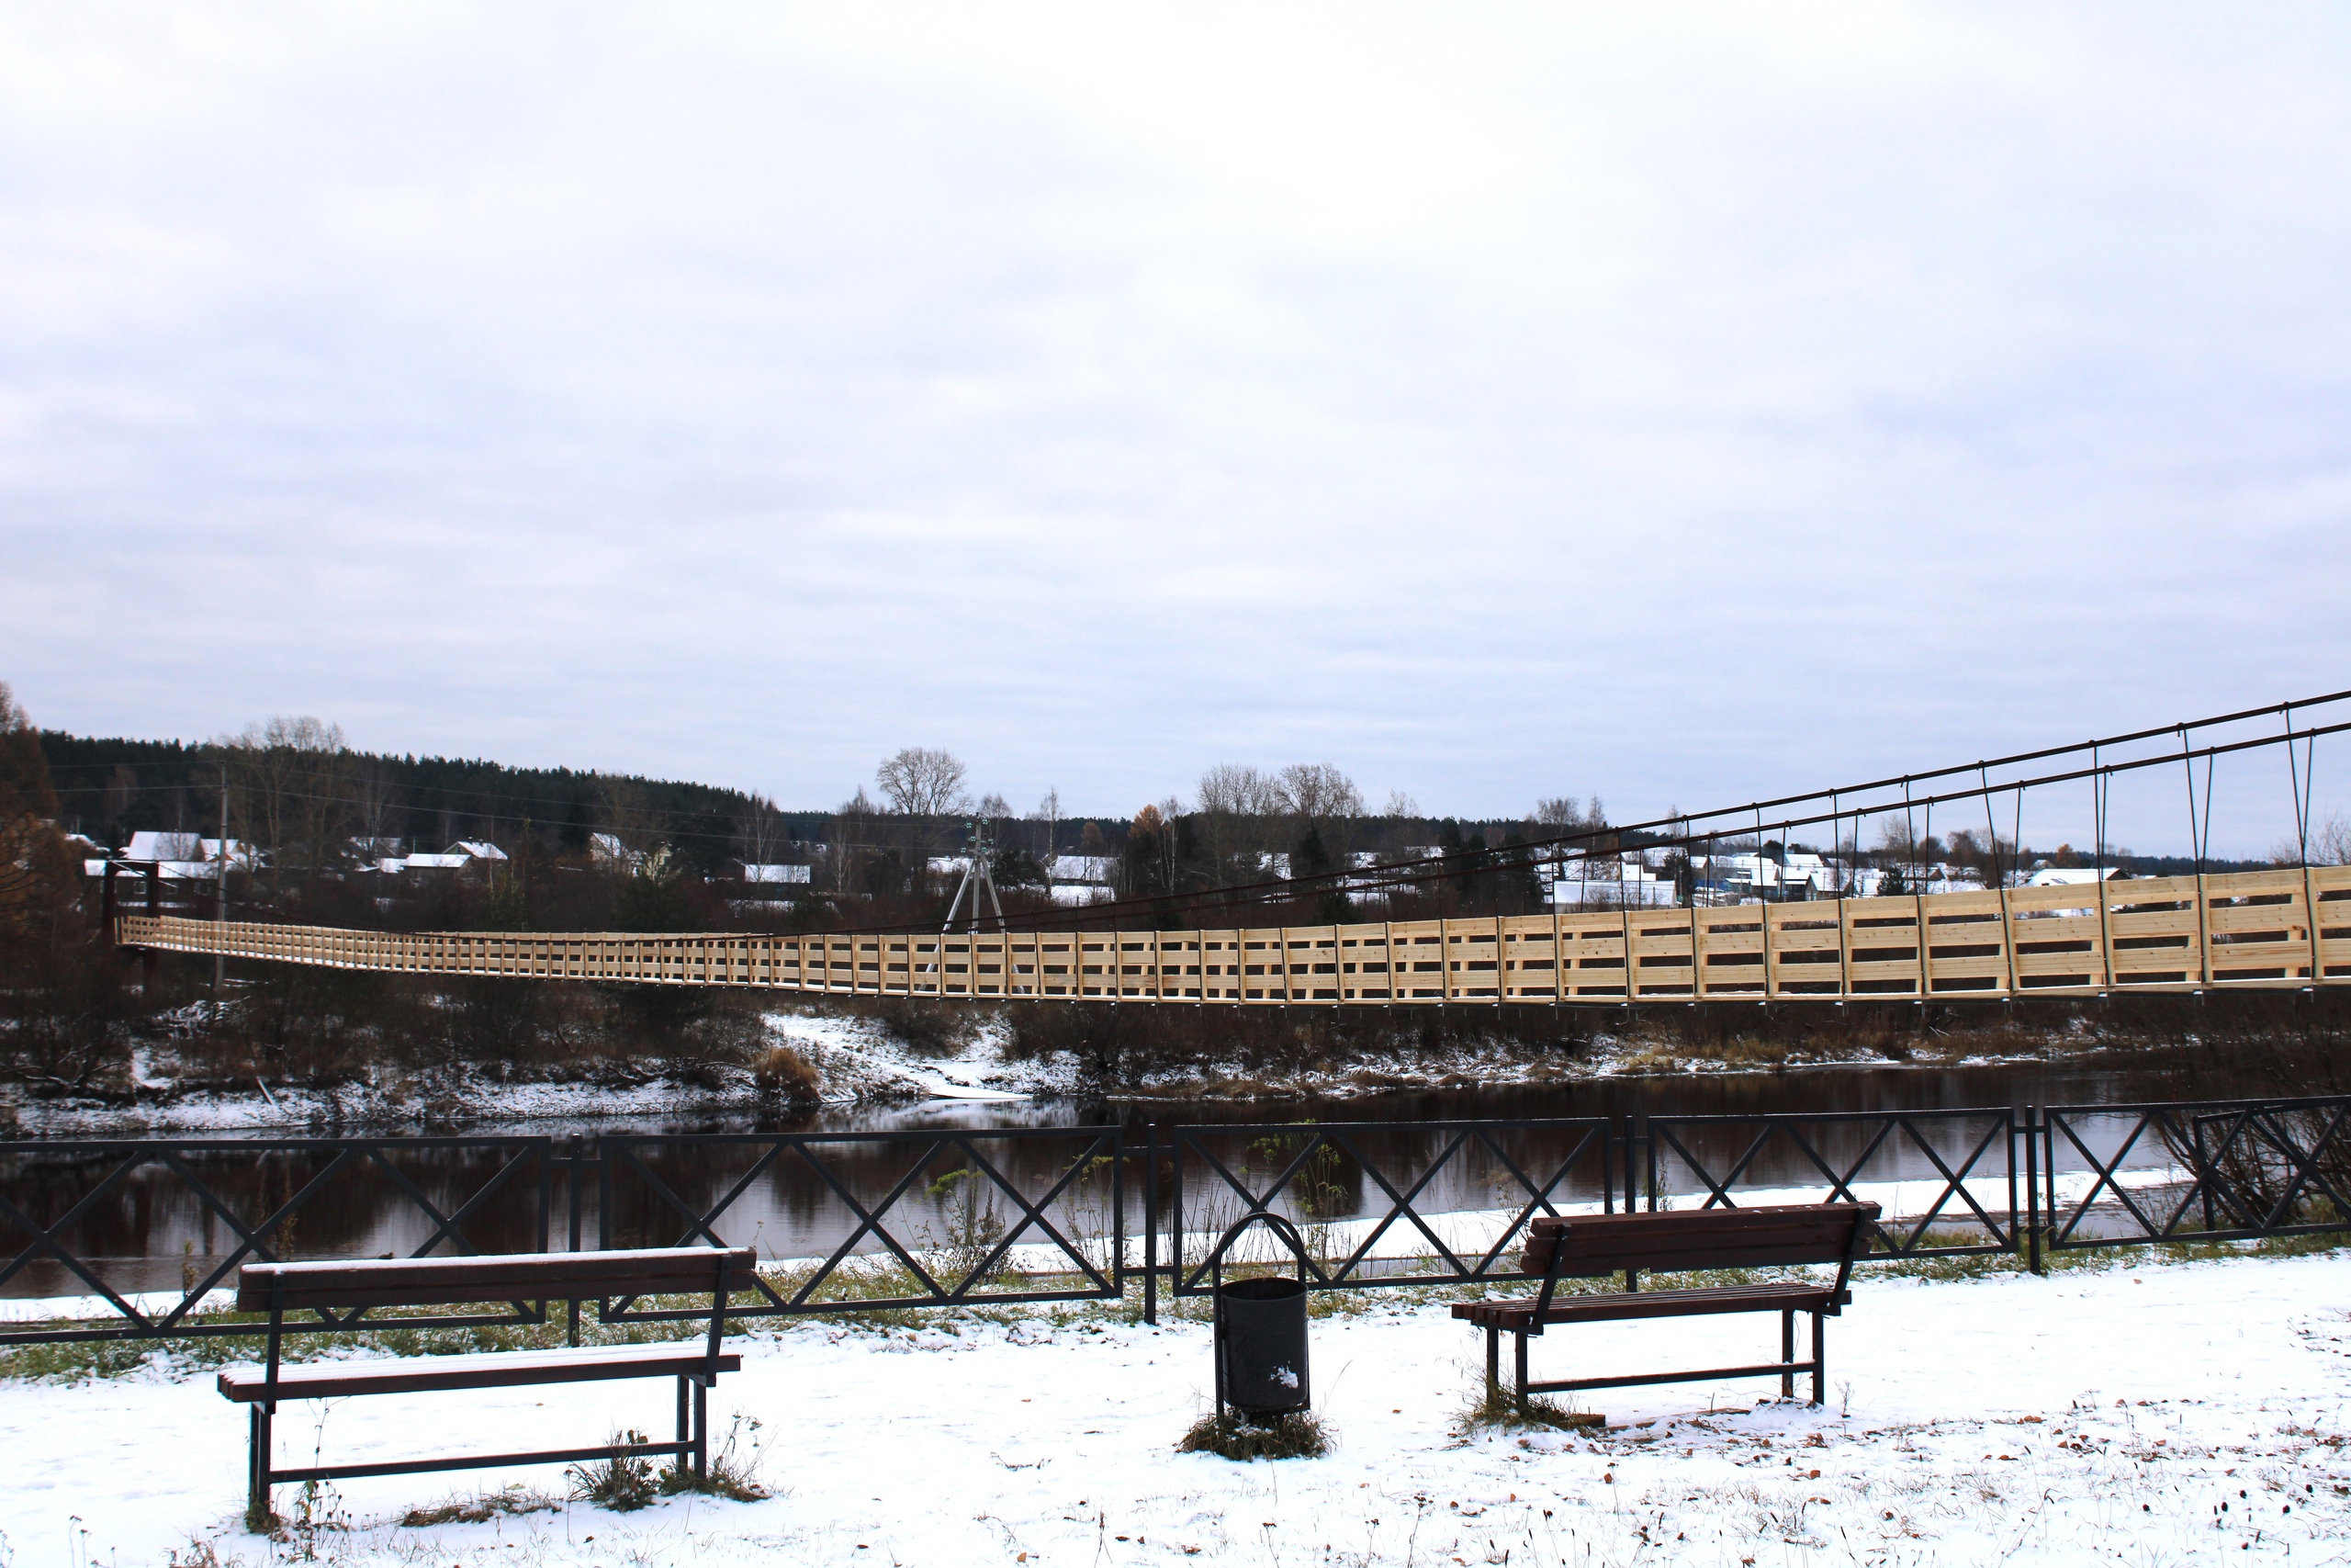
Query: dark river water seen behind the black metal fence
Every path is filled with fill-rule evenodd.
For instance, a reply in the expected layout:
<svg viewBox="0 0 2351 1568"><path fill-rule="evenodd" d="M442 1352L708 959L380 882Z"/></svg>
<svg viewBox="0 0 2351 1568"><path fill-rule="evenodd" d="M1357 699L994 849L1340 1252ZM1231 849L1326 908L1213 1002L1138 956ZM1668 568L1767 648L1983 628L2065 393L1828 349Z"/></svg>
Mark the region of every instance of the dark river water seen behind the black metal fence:
<svg viewBox="0 0 2351 1568"><path fill-rule="evenodd" d="M125 1168L120 1152L56 1143L0 1152L0 1199L7 1201L0 1208L0 1258L7 1262L0 1267L9 1269L0 1298L92 1293L92 1281L59 1251L113 1291L176 1295L226 1262L240 1237L289 1199L299 1204L275 1244L294 1258L407 1255L444 1222L477 1251L562 1248L574 1222L571 1166L562 1157L574 1138L590 1157L602 1150L602 1161L590 1159L578 1182L583 1246L684 1244L703 1234L694 1227L696 1215L708 1215L705 1234L755 1244L764 1258L823 1255L844 1241L858 1253L877 1251L872 1234L858 1237L858 1208L879 1213L917 1253L952 1251L1023 1222L1009 1192L1037 1204L1063 1182L1039 1213L1065 1234L1103 1237L1124 1208L1128 1255L1140 1260L1143 1143L1152 1124L1161 1128L1161 1229L1173 1225L1178 1173L1183 1227L1215 1232L1239 1211L1241 1187L1262 1190L1310 1150L1310 1133L1298 1126L1307 1121L1324 1124L1331 1143L1302 1164L1277 1208L1310 1225L1340 1227L1335 1234L1347 1234L1349 1220L1385 1213L1392 1192L1415 1192L1413 1204L1427 1215L1514 1211L1533 1187L1561 1206L1622 1201L1622 1157L1573 1121L1610 1119L1622 1131L1632 1114L1648 1119L1655 1182L1669 1199L1700 1199L1707 1175L1721 1182L1740 1166L1728 1180L1733 1192L1817 1201L1827 1197L1820 1168L1827 1164L1869 1182L1862 1197L1878 1197L1890 1215L1916 1215L1937 1199L1942 1168L1972 1159L1970 1190L2005 1225L2010 1140L1998 1135L2001 1110L2027 1100L2165 1098L2177 1098L2177 1088L2154 1070L2022 1063L1608 1079L1307 1105L933 1100L781 1124L541 1121L440 1140L386 1138L343 1154L341 1164L331 1145L183 1138L143 1145L146 1157ZM1890 1128L1883 1112L1902 1112L1909 1121ZM1759 1117L1803 1121L1756 1145ZM1502 1126L1472 1135L1411 1126L1467 1119ZM1570 1126L1556 1126L1561 1119ZM1171 1147L1168 1128L1178 1121L1192 1131ZM1093 1135L1077 1131L1105 1126L1124 1128L1124 1161L1107 1159ZM2111 1159L2123 1126L2092 1117L2081 1135L2090 1154ZM778 1152L769 1133L830 1138L795 1140ZM2165 1150L2144 1145L2123 1168L2163 1164ZM2078 1171L2085 1159L2064 1145L2057 1166ZM1639 1180L1648 1180L1646 1159L1639 1171ZM1963 1206L1947 1201L1940 1222L1951 1220L1972 1222ZM35 1241L40 1232L52 1234ZM1399 1246L1413 1239L1408 1229L1394 1237ZM1046 1241L1034 1229L1020 1239Z"/></svg>

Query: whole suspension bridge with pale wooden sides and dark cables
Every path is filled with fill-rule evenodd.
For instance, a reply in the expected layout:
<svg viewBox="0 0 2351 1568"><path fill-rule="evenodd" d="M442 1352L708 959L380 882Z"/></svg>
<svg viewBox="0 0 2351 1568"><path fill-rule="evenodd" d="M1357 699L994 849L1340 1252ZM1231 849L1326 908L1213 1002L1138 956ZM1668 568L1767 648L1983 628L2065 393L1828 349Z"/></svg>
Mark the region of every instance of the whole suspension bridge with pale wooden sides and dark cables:
<svg viewBox="0 0 2351 1568"><path fill-rule="evenodd" d="M635 985L734 985L830 997L940 1001L1096 1001L1192 1006L1625 1006L1704 1001L2005 1001L2123 992L2320 990L2351 985L2351 865L2313 865L2316 743L2351 722L2304 722L2351 703L2351 691L2278 703L2193 724L2045 748L1933 773L1907 773L1815 795L1751 802L1559 835L1460 860L1411 860L1373 872L1265 882L1183 898L1070 912L1070 924L1150 910L1154 929L1023 929L1053 912L971 931L816 933L538 933L350 931L263 922L127 914L115 940L150 952L219 954L324 969ZM2342 712L2342 710L2337 710ZM2285 719L2283 731L2241 736ZM2203 733L2217 738L2196 745ZM2177 738L2179 750L2168 750ZM2149 750L2149 743L2163 750ZM2109 877L2106 825L2118 778L2184 769L2196 863L2210 858L2215 764L2283 748L2297 865L2175 877ZM2062 766L2050 769L2050 762ZM2201 771L2201 780L2198 780ZM1801 903L1566 910L1340 924L1157 929L1168 912L1295 907L1319 893L1382 893L1573 856L1615 858L1627 844L1712 851L1796 830L1860 844L1867 823L1900 816L1904 842L1933 837L1937 806L1980 811L1998 851L2001 823L2022 832L2034 790L2085 788L2092 813L2088 879L2010 886L1994 863L1980 891L1909 891ZM1848 837L1850 835L1850 837ZM2010 846L2017 839L2008 839ZM1916 886L1916 879L1914 879ZM1140 922L1138 922L1140 924Z"/></svg>

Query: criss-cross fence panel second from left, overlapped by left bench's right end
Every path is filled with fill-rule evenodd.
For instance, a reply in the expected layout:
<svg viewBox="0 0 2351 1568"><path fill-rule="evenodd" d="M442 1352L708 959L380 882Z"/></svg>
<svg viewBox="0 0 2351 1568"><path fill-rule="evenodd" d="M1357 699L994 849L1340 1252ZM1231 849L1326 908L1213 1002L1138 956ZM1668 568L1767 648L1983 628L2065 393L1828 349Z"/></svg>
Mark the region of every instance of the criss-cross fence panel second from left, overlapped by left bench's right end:
<svg viewBox="0 0 2351 1568"><path fill-rule="evenodd" d="M823 1258L764 1269L752 1281L757 1300L731 1305L729 1316L1114 1300L1126 1291L1119 1128L656 1133L607 1135L600 1152L597 1246L759 1246L773 1255L769 1227L811 1187L853 1220ZM708 1309L618 1302L604 1316L698 1319Z"/></svg>

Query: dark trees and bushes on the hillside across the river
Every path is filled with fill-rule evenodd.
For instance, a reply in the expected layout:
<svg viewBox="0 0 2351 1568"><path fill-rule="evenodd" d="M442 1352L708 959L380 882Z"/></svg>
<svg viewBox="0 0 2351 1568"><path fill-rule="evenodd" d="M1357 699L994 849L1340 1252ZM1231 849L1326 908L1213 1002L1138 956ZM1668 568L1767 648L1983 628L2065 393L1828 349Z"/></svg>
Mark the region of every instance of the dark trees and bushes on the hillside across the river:
<svg viewBox="0 0 2351 1568"><path fill-rule="evenodd" d="M628 1077L658 1060L691 1074L741 1067L757 1048L757 999L708 987L230 964L223 994L209 961L134 966L101 929L85 858L139 830L219 839L223 804L226 837L259 851L228 860L219 879L230 914L320 926L936 929L964 858L983 844L1006 914L1025 924L1528 914L1547 907L1561 837L1594 856L1641 851L1657 877L1690 893L1690 858L1655 835L1610 827L1599 799L1542 799L1509 820L1432 818L1406 797L1371 809L1328 764L1223 764L1201 773L1190 799L1171 795L1105 818L1065 816L1051 792L1016 811L1002 795L973 795L950 752L907 748L832 811L790 811L684 780L360 752L334 724L308 717L209 743L96 741L35 729L0 684L0 1081L40 1093L120 1086L132 1041L165 1037L223 1079L324 1084L379 1063L418 1072L538 1063ZM491 842L503 858L388 875L379 867L395 839ZM1714 849L1784 860L1806 846L1749 837ZM1909 839L1893 825L1874 849L1831 849L1890 867L1998 870L2031 856L1989 835ZM2311 849L2351 858L2351 832L2330 823ZM804 865L806 882L748 879L743 865ZM183 877L179 907L219 912L219 882ZM1070 907L1072 886L1110 903Z"/></svg>

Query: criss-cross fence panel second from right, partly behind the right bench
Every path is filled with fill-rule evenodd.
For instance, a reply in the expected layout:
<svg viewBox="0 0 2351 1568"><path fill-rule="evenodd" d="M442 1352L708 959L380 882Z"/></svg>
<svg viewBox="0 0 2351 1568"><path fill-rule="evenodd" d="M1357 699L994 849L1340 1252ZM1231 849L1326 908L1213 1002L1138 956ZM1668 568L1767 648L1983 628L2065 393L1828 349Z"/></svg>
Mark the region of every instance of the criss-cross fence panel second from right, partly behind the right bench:
<svg viewBox="0 0 2351 1568"><path fill-rule="evenodd" d="M2012 1253L2034 1187L2020 1126L2008 1110L1648 1117L1627 1168L1650 1208L1874 1201L1874 1258Z"/></svg>

